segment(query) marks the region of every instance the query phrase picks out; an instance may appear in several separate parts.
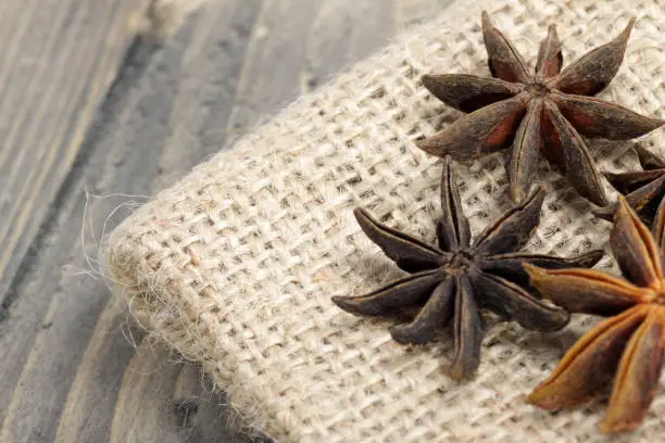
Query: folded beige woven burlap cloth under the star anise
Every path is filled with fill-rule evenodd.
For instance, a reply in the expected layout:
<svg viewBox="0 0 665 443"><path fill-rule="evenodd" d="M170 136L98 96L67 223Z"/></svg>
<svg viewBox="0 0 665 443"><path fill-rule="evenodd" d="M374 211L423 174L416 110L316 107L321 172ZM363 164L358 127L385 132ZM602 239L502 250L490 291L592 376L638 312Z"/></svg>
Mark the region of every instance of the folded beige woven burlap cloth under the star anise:
<svg viewBox="0 0 665 443"><path fill-rule="evenodd" d="M440 162L413 140L461 114L418 79L489 76L482 9L531 63L550 23L569 63L637 15L624 64L601 97L663 117L665 8L656 0L460 1L197 167L109 238L113 278L130 312L201 362L231 405L279 441L603 439L604 402L555 415L524 403L597 318L577 316L553 334L495 324L477 377L455 382L446 376L448 331L428 345L402 346L390 339L391 321L357 318L330 302L400 275L362 233L354 206L435 238ZM640 142L665 153L663 136L658 129ZM628 142L591 147L603 170L638 167ZM457 165L475 235L507 207L504 160ZM564 256L603 248L608 224L544 164L541 176L549 193L527 248ZM665 395L631 436L657 440L663 417Z"/></svg>

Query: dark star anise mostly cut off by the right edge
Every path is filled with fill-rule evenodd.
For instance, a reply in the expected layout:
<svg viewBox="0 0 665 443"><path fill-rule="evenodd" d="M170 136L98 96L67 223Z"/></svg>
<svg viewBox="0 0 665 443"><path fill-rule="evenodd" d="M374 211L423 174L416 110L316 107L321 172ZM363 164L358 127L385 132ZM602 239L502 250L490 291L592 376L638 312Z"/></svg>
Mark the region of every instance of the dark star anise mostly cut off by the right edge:
<svg viewBox="0 0 665 443"><path fill-rule="evenodd" d="M635 150L642 169L635 173L605 173L610 183L626 197L640 219L651 226L651 233L661 248L665 248L663 229L665 228L665 161L637 145ZM613 206L605 206L595 212L602 218L612 219Z"/></svg>

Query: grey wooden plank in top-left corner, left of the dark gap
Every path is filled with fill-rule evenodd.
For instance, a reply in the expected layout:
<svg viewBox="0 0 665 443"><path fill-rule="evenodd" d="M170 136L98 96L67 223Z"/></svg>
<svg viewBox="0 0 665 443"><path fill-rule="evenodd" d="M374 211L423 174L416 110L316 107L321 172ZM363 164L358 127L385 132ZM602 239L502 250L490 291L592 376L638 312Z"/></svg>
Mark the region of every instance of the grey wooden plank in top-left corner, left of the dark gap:
<svg viewBox="0 0 665 443"><path fill-rule="evenodd" d="M147 0L5 1L0 12L0 302L80 148ZM0 308L0 316L4 309Z"/></svg>

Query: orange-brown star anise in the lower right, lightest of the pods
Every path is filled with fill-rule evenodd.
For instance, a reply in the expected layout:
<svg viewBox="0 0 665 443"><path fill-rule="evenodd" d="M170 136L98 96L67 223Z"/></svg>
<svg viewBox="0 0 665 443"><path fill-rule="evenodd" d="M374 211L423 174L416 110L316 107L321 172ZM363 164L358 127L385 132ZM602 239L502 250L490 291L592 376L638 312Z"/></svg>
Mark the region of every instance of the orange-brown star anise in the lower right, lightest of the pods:
<svg viewBox="0 0 665 443"><path fill-rule="evenodd" d="M528 397L544 409L575 407L614 379L604 432L639 427L658 388L665 333L662 250L623 197L610 244L625 279L591 269L525 265L531 284L572 313L611 317L566 353Z"/></svg>

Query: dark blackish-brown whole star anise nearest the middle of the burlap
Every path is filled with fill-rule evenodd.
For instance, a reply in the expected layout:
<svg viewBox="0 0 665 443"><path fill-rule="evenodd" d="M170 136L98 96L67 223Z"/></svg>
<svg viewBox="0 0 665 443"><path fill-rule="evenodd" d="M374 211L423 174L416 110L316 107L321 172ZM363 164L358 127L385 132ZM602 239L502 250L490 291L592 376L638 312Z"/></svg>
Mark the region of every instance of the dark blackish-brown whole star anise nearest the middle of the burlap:
<svg viewBox="0 0 665 443"><path fill-rule="evenodd" d="M462 212L451 159L446 157L441 183L443 215L437 225L438 245L391 229L361 208L354 211L363 231L409 276L360 296L332 301L351 314L407 317L390 328L399 343L425 344L438 328L453 324L454 357L451 377L475 372L480 363L485 321L480 308L528 329L552 331L568 322L568 314L530 294L523 263L545 268L593 266L602 256L593 251L575 258L537 255L520 250L540 220L544 190L539 188L470 245L468 220Z"/></svg>

